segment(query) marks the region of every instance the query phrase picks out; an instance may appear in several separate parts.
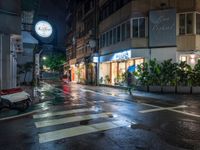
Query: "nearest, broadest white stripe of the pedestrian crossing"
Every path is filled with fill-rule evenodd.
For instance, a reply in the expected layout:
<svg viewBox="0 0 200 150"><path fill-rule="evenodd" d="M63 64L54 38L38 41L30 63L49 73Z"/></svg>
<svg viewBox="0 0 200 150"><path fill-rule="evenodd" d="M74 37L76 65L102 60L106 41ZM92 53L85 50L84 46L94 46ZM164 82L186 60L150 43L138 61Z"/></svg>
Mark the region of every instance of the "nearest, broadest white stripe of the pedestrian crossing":
<svg viewBox="0 0 200 150"><path fill-rule="evenodd" d="M78 135L114 129L122 126L126 126L125 123L122 123L121 121L112 121L112 122L97 123L87 126L72 127L68 129L62 129L62 130L39 134L39 142L46 143L63 138L69 138Z"/></svg>

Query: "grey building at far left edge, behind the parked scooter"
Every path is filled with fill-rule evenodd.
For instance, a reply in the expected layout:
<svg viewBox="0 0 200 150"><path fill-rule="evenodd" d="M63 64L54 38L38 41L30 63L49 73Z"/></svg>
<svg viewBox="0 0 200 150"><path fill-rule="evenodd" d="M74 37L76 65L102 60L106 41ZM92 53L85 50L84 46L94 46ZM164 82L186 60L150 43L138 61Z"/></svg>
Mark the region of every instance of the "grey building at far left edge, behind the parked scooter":
<svg viewBox="0 0 200 150"><path fill-rule="evenodd" d="M0 1L0 89L16 86L16 52L21 51L21 0Z"/></svg>

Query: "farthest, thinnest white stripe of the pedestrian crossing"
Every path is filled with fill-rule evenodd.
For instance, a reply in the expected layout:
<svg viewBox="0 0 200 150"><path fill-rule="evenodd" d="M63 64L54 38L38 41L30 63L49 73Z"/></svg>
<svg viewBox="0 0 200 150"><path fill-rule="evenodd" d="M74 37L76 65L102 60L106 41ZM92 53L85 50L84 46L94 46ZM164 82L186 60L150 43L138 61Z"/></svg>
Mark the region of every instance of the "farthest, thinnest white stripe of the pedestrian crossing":
<svg viewBox="0 0 200 150"><path fill-rule="evenodd" d="M67 114L88 112L88 111L94 111L94 108L73 109L73 110L59 111L59 112L48 112L48 113L44 113L44 114L33 115L33 118L35 118L35 119L37 119L37 118L46 118L46 117L67 115Z"/></svg>

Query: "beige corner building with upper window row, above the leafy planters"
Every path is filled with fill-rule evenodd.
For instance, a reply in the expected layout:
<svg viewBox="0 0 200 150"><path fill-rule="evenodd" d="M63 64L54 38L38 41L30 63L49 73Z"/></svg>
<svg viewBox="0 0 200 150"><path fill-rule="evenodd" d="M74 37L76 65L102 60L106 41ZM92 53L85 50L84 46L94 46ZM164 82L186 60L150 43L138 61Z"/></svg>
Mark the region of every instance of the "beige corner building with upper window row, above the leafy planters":
<svg viewBox="0 0 200 150"><path fill-rule="evenodd" d="M194 65L200 0L100 0L99 79L116 84L129 67L156 58Z"/></svg>

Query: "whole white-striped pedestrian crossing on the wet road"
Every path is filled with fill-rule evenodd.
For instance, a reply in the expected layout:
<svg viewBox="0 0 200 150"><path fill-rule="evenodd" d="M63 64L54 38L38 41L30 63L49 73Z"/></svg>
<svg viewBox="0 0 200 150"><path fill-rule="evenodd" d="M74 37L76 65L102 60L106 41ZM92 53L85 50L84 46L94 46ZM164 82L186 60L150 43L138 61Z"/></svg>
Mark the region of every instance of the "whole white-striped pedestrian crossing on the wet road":
<svg viewBox="0 0 200 150"><path fill-rule="evenodd" d="M39 132L39 143L46 143L127 126L127 122L114 117L117 116L115 113L103 112L102 110L96 111L94 106L91 108L84 107L85 108L73 108L72 110L65 111L45 111L33 115L35 127ZM88 120L93 121L87 125L77 125L75 123ZM96 122L95 120L101 121ZM65 127L69 123L75 123L75 125ZM64 127L59 125L63 125ZM60 128L54 128L58 126ZM48 128L48 132L45 130L46 128ZM51 129L51 131L49 131L49 129ZM45 130L45 132L41 132L42 130Z"/></svg>

